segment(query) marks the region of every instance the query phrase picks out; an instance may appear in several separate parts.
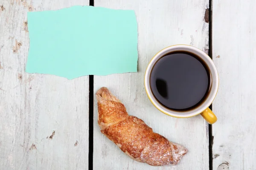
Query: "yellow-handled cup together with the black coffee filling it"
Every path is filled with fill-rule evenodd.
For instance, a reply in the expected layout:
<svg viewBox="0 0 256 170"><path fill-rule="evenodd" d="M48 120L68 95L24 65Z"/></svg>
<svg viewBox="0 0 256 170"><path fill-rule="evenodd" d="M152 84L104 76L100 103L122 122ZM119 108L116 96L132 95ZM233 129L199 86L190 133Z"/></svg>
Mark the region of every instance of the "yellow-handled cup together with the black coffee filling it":
<svg viewBox="0 0 256 170"><path fill-rule="evenodd" d="M159 51L145 71L145 91L166 115L189 118L201 114L213 124L209 109L218 91L218 72L212 59L191 45L172 45Z"/></svg>

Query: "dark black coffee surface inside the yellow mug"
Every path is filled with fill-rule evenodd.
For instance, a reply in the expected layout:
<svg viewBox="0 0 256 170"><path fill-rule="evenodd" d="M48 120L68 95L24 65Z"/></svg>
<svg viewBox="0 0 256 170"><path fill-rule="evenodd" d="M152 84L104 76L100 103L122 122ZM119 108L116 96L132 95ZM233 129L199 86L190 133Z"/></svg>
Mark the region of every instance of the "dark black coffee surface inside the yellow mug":
<svg viewBox="0 0 256 170"><path fill-rule="evenodd" d="M174 110L194 108L209 91L210 74L194 54L175 51L160 58L150 75L151 90L164 106Z"/></svg>

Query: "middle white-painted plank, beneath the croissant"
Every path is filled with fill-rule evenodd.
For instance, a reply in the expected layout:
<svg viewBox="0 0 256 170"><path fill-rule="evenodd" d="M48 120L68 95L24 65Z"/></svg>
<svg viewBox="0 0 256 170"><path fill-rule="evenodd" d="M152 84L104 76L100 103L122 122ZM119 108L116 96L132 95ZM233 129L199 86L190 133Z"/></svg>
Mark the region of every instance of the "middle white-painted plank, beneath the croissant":
<svg viewBox="0 0 256 170"><path fill-rule="evenodd" d="M100 133L94 100L93 168L95 170L207 170L209 169L208 124L201 116L177 119L158 111L144 90L144 74L150 59L169 45L191 44L208 51L209 23L204 14L208 0L95 0L95 6L135 10L138 22L138 73L94 76L94 93L108 87L130 115L143 119L167 139L183 144L189 153L173 167L151 167L122 153ZM207 19L207 17L206 17Z"/></svg>

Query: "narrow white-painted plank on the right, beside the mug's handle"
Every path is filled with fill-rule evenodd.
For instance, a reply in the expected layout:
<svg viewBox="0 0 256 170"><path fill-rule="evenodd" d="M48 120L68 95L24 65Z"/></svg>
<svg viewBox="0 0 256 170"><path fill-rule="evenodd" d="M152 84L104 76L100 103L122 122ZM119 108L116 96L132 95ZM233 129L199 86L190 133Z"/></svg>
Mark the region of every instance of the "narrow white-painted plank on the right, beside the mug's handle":
<svg viewBox="0 0 256 170"><path fill-rule="evenodd" d="M255 0L213 1L213 61L220 86L213 103L213 169L256 169ZM221 168L224 167L224 168Z"/></svg>

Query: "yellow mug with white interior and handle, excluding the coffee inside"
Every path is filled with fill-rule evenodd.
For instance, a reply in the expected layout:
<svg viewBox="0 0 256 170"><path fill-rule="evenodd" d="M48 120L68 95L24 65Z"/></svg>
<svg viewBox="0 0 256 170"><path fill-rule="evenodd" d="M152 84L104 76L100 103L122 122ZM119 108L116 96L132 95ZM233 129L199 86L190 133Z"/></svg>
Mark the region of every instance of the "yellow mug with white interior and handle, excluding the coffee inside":
<svg viewBox="0 0 256 170"><path fill-rule="evenodd" d="M195 108L185 110L185 111L178 111L178 110L172 110L170 108L164 107L160 102L155 98L151 87L150 87L150 74L151 71L155 65L155 63L166 54L175 52L175 51L185 51L192 54L195 54L196 56L200 57L201 60L204 61L204 63L209 68L209 74L210 74L210 87L209 91L207 93L206 99L201 103L201 105L198 105ZM172 45L167 48L164 48L163 50L159 51L148 63L148 67L145 72L145 90L148 95L148 98L152 102L152 104L161 112L177 117L177 118L188 118L192 116L196 116L198 114L201 114L201 116L204 117L204 119L209 123L213 124L217 121L217 117L214 113L209 109L209 106L212 104L212 101L214 100L217 91L218 91L218 72L217 69L212 62L212 59L204 53L204 51L201 51L198 48L195 48L191 45Z"/></svg>

